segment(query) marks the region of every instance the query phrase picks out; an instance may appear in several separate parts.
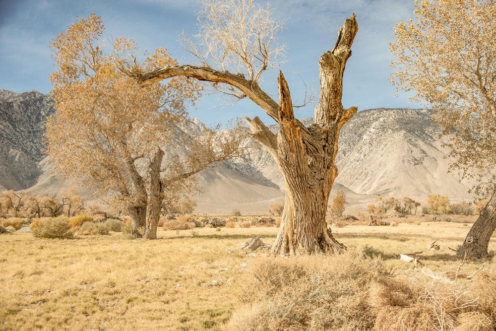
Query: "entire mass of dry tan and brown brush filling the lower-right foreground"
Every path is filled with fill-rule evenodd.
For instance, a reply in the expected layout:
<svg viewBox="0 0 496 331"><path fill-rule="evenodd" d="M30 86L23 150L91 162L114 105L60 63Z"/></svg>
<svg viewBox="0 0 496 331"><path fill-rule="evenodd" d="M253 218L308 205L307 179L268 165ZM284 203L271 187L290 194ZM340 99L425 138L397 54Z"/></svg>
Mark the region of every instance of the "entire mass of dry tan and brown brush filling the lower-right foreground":
<svg viewBox="0 0 496 331"><path fill-rule="evenodd" d="M472 288L395 276L380 258L268 257L238 280L244 306L228 330L494 330L496 273ZM480 286L480 290L478 289Z"/></svg>

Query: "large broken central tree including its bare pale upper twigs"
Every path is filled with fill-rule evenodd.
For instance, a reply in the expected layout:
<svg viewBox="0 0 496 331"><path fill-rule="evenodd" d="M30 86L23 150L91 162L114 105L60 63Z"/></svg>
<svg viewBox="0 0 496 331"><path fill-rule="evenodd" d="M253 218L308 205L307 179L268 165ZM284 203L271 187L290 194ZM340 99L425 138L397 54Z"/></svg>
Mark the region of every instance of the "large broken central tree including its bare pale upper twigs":
<svg viewBox="0 0 496 331"><path fill-rule="evenodd" d="M295 118L290 89L281 71L278 101L259 85L262 75L279 65L284 52L277 38L282 23L274 19L270 7L253 0L205 0L198 20L198 35L185 45L200 66L156 66L155 70L129 74L143 87L179 76L207 81L260 107L279 124L277 134L258 117L245 120L252 136L273 157L286 186L281 226L271 251L297 255L344 250L326 228L325 215L338 174L334 161L339 132L357 112L356 107L344 108L341 103L344 69L358 32L355 15L346 19L335 45L318 60L320 100L309 127Z"/></svg>

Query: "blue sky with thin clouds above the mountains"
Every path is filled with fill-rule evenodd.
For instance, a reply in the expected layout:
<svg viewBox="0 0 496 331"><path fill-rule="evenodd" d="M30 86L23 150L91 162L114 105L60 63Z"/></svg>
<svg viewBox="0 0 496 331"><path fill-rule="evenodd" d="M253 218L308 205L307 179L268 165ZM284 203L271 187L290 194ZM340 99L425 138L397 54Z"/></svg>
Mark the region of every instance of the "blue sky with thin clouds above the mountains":
<svg viewBox="0 0 496 331"><path fill-rule="evenodd" d="M265 4L266 1L259 1ZM418 107L408 97L395 97L387 77L392 59L387 41L393 27L413 17L413 0L270 0L276 17L285 21L280 38L287 44L286 76L293 99L305 92L300 76L318 94L321 54L330 50L345 18L356 13L359 32L353 56L345 71L343 106L369 108ZM0 89L42 93L51 90L48 75L54 70L48 43L75 19L92 12L102 16L107 37L125 36L137 42L140 51L166 47L181 64L197 64L179 44L179 34L196 32L195 0L0 0ZM277 70L263 75L262 86L277 98ZM297 110L297 117L313 114L314 105ZM232 106L221 95L206 96L191 110L191 116L206 123L226 123L233 117L260 116L272 123L249 100Z"/></svg>

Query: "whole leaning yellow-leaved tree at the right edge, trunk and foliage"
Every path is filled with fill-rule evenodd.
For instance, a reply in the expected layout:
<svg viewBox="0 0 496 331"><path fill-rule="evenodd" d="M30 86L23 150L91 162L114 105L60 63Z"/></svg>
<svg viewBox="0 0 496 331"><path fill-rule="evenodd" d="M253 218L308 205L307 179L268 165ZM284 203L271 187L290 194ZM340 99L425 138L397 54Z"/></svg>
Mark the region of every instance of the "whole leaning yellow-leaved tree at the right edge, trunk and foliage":
<svg viewBox="0 0 496 331"><path fill-rule="evenodd" d="M478 178L490 197L458 249L459 257L487 257L496 229L496 2L415 1L414 20L395 27L392 82L427 101L449 138L451 166Z"/></svg>

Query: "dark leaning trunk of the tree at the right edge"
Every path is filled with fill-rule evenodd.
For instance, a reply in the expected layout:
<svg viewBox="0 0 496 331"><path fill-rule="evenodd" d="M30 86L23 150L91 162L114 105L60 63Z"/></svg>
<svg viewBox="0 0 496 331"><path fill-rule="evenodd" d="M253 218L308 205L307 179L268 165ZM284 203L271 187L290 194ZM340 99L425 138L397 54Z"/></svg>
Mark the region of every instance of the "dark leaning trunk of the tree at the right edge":
<svg viewBox="0 0 496 331"><path fill-rule="evenodd" d="M462 246L456 252L459 258L489 257L488 246L496 229L496 190L488 204L481 210L479 217L465 237Z"/></svg>

